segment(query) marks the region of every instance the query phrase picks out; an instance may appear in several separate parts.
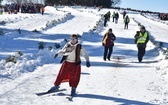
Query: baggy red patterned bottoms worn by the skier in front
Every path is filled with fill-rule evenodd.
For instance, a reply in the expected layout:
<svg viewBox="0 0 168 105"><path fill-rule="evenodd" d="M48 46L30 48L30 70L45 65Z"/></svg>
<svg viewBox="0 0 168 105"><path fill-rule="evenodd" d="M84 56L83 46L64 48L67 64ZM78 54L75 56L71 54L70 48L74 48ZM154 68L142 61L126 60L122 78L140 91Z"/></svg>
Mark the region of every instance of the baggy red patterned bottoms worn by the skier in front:
<svg viewBox="0 0 168 105"><path fill-rule="evenodd" d="M72 62L63 62L54 85L59 86L62 82L69 82L70 87L77 87L80 80L81 65Z"/></svg>

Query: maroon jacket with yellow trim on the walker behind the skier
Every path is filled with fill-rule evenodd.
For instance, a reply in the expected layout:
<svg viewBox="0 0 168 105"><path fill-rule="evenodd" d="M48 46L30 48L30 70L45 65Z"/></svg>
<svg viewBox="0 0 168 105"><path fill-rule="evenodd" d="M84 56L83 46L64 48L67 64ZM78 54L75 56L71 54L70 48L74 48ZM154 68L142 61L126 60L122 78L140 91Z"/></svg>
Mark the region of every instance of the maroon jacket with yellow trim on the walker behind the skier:
<svg viewBox="0 0 168 105"><path fill-rule="evenodd" d="M111 34L106 33L103 37L102 44L105 47L114 46L115 40L116 40L116 36L113 33L111 33Z"/></svg>

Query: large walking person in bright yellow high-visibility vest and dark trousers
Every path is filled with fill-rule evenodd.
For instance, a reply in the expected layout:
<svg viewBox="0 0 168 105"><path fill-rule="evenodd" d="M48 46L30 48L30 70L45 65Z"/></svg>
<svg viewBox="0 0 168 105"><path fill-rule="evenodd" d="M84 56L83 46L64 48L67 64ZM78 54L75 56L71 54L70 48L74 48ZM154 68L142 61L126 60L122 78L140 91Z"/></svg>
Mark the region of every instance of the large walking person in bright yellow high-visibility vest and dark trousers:
<svg viewBox="0 0 168 105"><path fill-rule="evenodd" d="M146 31L144 26L141 26L140 31L137 31L136 35L134 36L135 43L138 47L138 61L142 62L143 56L145 55L146 44L149 41L149 34Z"/></svg>

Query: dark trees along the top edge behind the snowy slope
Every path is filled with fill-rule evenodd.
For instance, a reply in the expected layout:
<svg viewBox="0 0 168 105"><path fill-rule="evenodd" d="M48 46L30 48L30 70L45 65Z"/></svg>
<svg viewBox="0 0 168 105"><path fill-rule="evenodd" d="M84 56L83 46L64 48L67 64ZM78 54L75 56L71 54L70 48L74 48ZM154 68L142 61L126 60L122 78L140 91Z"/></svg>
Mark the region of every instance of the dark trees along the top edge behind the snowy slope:
<svg viewBox="0 0 168 105"><path fill-rule="evenodd" d="M3 0L0 0L0 3ZM13 2L16 4L22 3L38 3L39 0L6 0L7 2ZM110 8L121 3L121 0L40 0L40 2L46 5L81 5L81 6L102 6L104 8Z"/></svg>

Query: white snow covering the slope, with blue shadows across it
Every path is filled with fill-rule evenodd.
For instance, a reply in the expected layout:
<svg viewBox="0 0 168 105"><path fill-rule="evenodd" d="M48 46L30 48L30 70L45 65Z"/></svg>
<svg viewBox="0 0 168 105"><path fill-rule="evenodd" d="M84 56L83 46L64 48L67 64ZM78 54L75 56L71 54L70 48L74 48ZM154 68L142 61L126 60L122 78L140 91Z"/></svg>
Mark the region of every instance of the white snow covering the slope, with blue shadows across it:
<svg viewBox="0 0 168 105"><path fill-rule="evenodd" d="M143 62L138 62L134 35L139 26L134 20L143 24L156 42L163 42L163 49L168 48L168 25L129 13L128 30L124 30L121 14L118 24L110 21L103 27L102 14L108 11L117 10L48 6L44 15L0 15L0 22L6 22L0 25L4 32L0 35L1 105L167 105L167 60L161 48L150 41ZM111 61L103 61L101 40L109 28L113 29L117 39ZM82 58L77 97L73 102L65 98L71 91L68 83L61 84L61 88L67 90L59 94L37 96L35 93L53 86L61 66L61 58L53 58L59 50L54 44L63 46L65 39L69 40L73 33L82 36L80 41L91 62L91 67L87 68ZM38 49L39 42L46 43L43 50ZM49 50L48 46L53 49ZM18 51L23 56L19 56ZM6 63L9 55L15 55L17 63Z"/></svg>

